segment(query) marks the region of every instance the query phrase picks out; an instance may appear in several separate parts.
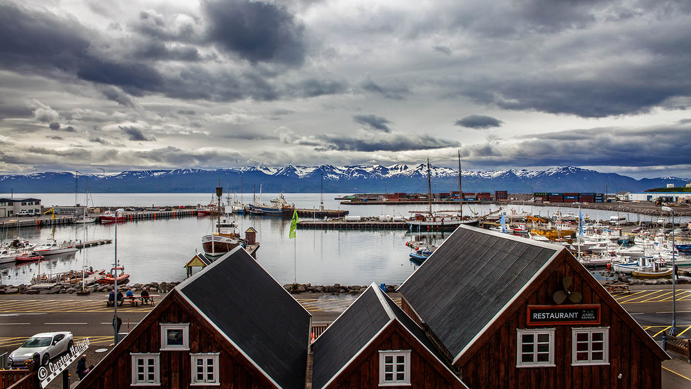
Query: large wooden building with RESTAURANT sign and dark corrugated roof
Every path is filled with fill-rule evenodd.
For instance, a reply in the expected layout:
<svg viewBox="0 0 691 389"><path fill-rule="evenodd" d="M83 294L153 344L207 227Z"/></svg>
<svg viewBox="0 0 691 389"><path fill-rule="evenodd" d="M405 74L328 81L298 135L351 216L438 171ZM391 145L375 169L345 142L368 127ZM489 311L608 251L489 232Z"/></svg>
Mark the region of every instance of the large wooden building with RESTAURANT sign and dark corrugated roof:
<svg viewBox="0 0 691 389"><path fill-rule="evenodd" d="M460 226L402 307L470 388L660 388L667 354L566 248Z"/></svg>

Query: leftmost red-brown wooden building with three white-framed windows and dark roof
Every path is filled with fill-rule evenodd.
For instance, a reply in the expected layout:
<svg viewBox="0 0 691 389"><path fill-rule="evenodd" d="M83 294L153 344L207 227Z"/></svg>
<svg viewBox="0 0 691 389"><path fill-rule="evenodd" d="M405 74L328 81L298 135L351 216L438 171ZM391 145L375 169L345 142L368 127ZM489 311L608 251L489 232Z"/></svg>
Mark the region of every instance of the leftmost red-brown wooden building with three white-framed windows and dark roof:
<svg viewBox="0 0 691 389"><path fill-rule="evenodd" d="M173 289L77 388L305 388L311 318L237 247Z"/></svg>

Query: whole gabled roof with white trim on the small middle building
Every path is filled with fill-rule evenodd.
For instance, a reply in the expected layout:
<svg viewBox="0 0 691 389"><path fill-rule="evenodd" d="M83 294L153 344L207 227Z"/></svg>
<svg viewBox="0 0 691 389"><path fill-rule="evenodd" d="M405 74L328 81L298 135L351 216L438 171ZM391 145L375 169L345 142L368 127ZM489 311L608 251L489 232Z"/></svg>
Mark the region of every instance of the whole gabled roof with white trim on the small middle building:
<svg viewBox="0 0 691 389"><path fill-rule="evenodd" d="M424 331L373 283L312 343L312 388L323 388L336 379L394 321L405 327L462 384Z"/></svg>

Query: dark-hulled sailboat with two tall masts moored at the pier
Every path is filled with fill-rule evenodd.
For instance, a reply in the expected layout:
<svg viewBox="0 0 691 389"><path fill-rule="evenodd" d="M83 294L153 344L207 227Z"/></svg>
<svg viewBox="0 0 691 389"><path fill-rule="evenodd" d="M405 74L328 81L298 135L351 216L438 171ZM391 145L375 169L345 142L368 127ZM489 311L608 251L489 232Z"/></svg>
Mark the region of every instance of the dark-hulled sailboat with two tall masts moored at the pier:
<svg viewBox="0 0 691 389"><path fill-rule="evenodd" d="M466 226L477 226L482 217L463 217L463 187L461 180L461 152L458 152L458 190L459 190L459 210L432 210L432 181L430 173L430 160L427 159L427 189L429 210L411 210L415 214L413 219L406 221L410 230L455 230L461 224Z"/></svg>

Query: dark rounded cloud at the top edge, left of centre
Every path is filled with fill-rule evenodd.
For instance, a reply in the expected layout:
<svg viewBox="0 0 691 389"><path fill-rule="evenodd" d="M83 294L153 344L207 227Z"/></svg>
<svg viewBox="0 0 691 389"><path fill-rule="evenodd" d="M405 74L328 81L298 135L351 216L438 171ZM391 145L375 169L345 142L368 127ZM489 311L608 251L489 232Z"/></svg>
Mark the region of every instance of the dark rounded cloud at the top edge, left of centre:
<svg viewBox="0 0 691 389"><path fill-rule="evenodd" d="M202 1L208 39L250 62L301 65L304 26L287 8L264 1Z"/></svg>

